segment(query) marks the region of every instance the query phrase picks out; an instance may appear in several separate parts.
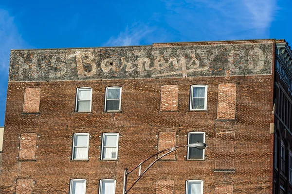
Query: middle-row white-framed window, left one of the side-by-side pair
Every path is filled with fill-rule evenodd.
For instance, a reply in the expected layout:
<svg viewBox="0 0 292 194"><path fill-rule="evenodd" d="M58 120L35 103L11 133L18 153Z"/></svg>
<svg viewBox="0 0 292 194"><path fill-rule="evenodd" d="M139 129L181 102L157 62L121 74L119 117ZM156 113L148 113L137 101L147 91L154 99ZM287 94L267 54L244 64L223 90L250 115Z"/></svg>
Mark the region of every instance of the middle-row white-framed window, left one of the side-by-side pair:
<svg viewBox="0 0 292 194"><path fill-rule="evenodd" d="M88 143L88 133L74 134L72 160L88 160Z"/></svg>

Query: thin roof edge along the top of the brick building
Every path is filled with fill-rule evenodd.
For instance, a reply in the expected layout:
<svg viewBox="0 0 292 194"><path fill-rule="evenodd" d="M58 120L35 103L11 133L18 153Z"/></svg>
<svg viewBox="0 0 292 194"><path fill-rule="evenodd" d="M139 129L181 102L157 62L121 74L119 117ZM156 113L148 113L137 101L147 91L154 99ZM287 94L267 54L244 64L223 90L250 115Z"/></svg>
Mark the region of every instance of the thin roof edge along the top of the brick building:
<svg viewBox="0 0 292 194"><path fill-rule="evenodd" d="M248 39L248 40L219 40L219 41L193 41L193 42L164 42L164 43L152 43L152 45L134 45L134 46L114 46L114 47L75 47L75 48L53 48L53 49L11 49L11 50L59 50L59 49L109 49L109 48L128 48L128 47L153 47L153 45L160 44L190 44L190 43L224 43L224 42L253 42L253 41L265 41L265 40L275 40L271 39ZM284 39L279 39L284 40ZM277 41L277 40L276 40ZM285 41L285 40L284 40Z"/></svg>

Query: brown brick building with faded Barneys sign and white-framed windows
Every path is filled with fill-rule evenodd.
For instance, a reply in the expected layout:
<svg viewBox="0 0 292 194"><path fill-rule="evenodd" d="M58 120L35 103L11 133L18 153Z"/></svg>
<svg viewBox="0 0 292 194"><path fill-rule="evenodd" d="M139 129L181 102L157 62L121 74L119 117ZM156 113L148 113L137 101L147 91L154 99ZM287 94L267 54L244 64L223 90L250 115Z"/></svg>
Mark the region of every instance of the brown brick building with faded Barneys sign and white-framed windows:
<svg viewBox="0 0 292 194"><path fill-rule="evenodd" d="M0 193L122 194L124 168L200 141L129 193L290 194L290 57L274 39L12 50Z"/></svg>

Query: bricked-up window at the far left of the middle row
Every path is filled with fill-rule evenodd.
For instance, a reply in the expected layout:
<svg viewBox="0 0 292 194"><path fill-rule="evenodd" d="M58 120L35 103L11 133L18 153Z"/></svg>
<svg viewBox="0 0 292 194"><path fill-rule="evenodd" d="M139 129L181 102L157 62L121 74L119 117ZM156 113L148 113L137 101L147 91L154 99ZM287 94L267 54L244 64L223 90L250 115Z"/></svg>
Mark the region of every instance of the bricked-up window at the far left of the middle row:
<svg viewBox="0 0 292 194"><path fill-rule="evenodd" d="M20 137L19 160L36 159L37 134L23 133Z"/></svg>

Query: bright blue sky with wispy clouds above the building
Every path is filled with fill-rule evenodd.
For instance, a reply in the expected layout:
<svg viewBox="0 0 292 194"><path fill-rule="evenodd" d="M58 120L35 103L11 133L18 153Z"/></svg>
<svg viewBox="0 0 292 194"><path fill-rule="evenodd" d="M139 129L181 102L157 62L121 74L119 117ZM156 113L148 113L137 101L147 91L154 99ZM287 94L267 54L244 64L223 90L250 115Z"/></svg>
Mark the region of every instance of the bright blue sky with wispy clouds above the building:
<svg viewBox="0 0 292 194"><path fill-rule="evenodd" d="M276 38L292 45L292 0L1 0L0 126L10 49Z"/></svg>

